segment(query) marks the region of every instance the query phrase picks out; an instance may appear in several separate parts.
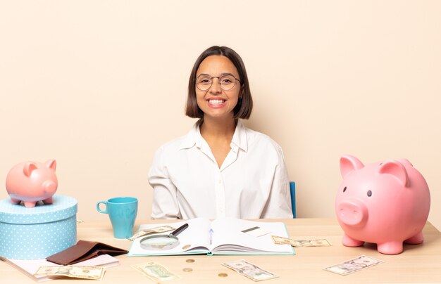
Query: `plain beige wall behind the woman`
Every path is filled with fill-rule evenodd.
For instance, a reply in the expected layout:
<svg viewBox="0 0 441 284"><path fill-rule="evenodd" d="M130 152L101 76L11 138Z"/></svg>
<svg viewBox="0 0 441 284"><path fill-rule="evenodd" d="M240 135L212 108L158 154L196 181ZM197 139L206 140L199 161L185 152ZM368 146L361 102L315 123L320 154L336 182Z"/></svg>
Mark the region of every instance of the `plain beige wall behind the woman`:
<svg viewBox="0 0 441 284"><path fill-rule="evenodd" d="M441 1L1 1L0 183L26 160L58 163L58 194L139 198L156 148L186 134L197 56L242 56L245 124L284 149L299 217L333 217L339 159L406 157L441 228ZM7 198L6 190L0 198Z"/></svg>

